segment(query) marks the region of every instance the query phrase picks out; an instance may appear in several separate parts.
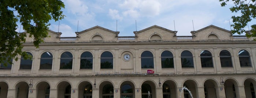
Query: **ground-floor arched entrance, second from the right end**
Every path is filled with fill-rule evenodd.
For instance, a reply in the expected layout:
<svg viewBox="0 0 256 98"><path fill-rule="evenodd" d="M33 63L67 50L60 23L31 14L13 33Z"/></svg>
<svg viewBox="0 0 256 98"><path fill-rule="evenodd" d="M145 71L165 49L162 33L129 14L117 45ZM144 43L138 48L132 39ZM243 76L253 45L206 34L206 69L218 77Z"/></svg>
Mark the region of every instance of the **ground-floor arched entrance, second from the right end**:
<svg viewBox="0 0 256 98"><path fill-rule="evenodd" d="M226 98L237 98L237 82L233 79L227 79L224 83Z"/></svg>

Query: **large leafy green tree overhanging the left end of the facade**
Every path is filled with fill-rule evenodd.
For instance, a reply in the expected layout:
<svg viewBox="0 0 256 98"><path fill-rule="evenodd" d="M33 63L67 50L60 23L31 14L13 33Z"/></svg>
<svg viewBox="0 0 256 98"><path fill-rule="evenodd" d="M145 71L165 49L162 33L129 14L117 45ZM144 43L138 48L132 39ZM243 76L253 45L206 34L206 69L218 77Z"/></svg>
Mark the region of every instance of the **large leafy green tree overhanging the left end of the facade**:
<svg viewBox="0 0 256 98"><path fill-rule="evenodd" d="M34 46L44 42L48 37L49 20L64 18L61 0L0 0L0 63L11 63L11 59L18 60L18 55L24 59L31 59L22 51L22 43L26 41L26 34L15 30L20 22L29 37L34 37ZM14 14L15 12L15 14ZM7 65L5 62L4 65Z"/></svg>

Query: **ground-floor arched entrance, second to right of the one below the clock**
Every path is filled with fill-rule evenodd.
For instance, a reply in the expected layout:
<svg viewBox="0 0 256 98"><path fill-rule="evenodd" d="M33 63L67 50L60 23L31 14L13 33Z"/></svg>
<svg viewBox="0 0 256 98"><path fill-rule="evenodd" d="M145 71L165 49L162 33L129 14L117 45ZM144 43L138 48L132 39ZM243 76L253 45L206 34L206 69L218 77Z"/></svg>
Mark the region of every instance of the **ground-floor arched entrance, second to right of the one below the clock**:
<svg viewBox="0 0 256 98"><path fill-rule="evenodd" d="M177 98L176 83L172 80L167 80L163 83L163 98Z"/></svg>

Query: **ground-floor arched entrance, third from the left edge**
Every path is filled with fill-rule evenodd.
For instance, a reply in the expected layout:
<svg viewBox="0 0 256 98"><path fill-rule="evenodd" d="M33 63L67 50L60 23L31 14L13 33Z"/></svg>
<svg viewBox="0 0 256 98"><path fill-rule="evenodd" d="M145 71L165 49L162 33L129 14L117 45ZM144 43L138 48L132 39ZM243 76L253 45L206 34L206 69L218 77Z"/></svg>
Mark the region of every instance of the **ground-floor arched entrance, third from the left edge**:
<svg viewBox="0 0 256 98"><path fill-rule="evenodd" d="M47 82L37 84L37 98L49 98L50 85Z"/></svg>

